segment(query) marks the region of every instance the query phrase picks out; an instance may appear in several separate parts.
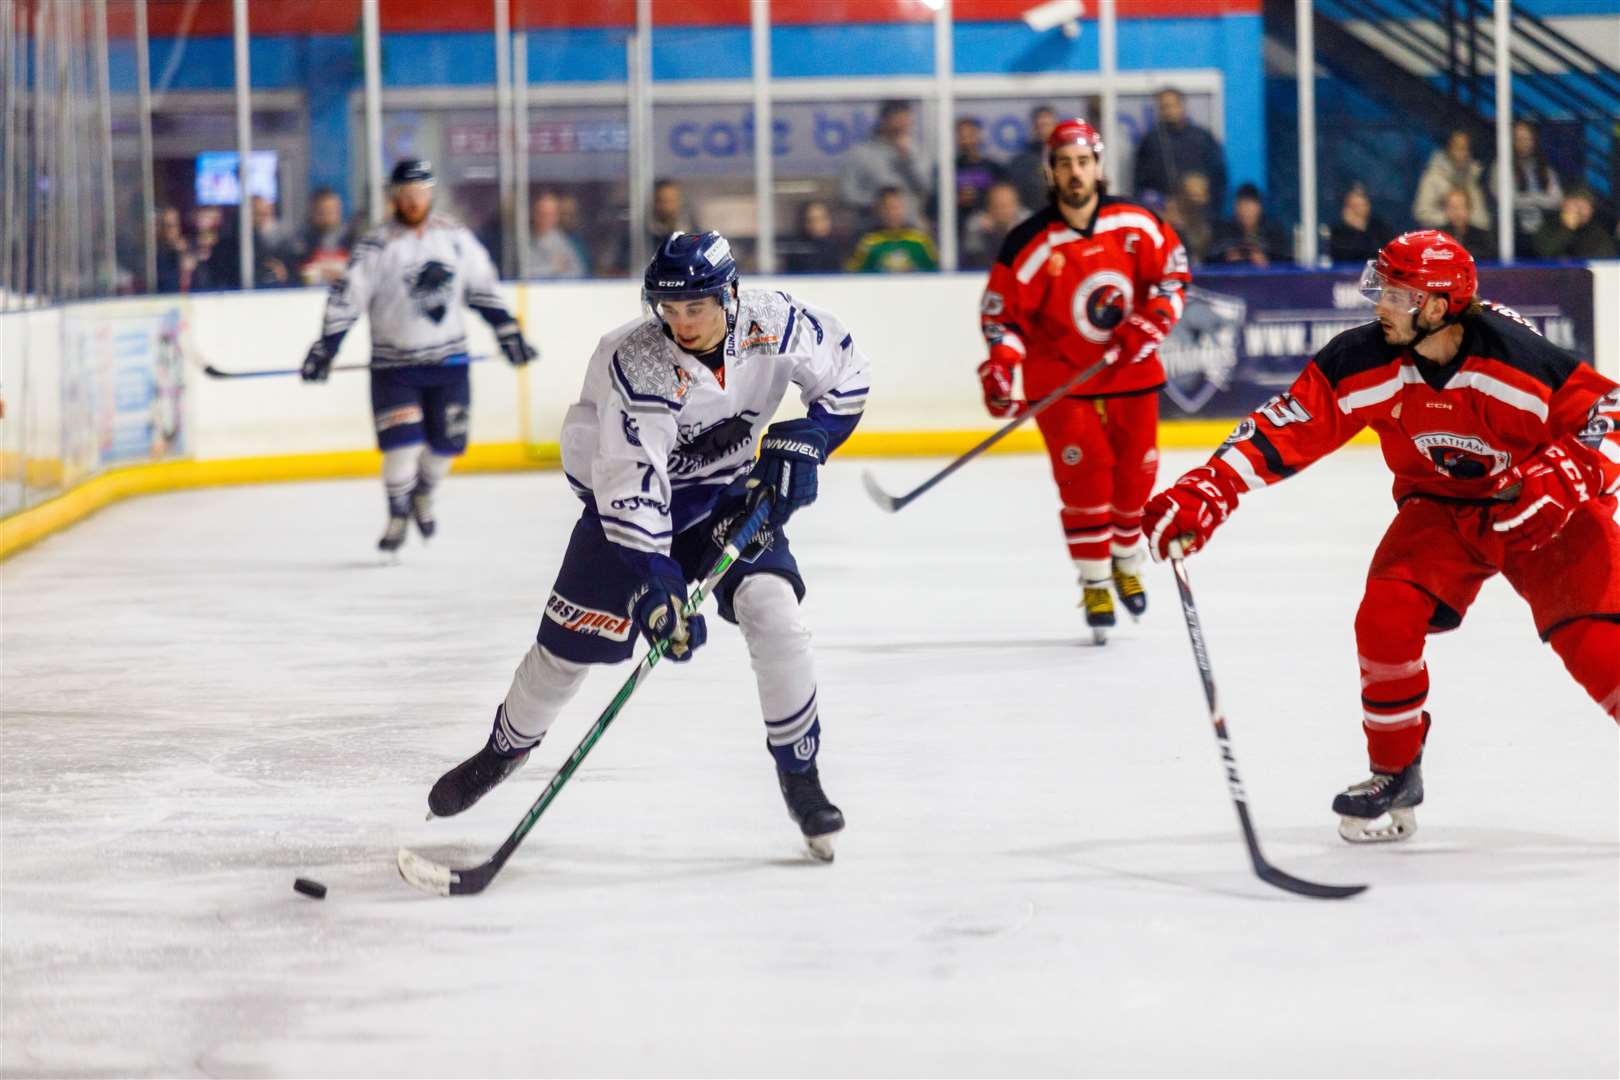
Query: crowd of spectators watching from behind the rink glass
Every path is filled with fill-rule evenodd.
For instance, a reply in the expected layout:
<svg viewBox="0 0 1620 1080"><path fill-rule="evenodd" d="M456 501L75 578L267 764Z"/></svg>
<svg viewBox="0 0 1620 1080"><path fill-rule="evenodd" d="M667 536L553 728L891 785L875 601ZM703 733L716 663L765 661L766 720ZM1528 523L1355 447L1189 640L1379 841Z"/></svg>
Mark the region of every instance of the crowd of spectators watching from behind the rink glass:
<svg viewBox="0 0 1620 1080"><path fill-rule="evenodd" d="M987 152L985 131L974 117L956 121L956 228L959 266L980 270L995 261L1008 233L1047 204L1045 141L1059 117L1050 105L1029 115L1029 141L998 160ZM1620 130L1617 130L1620 146ZM1152 123L1131 157L1132 198L1174 225L1192 264L1285 266L1294 261L1291 223L1267 210L1265 193L1252 181L1236 186L1226 210L1228 173L1220 141L1187 117L1186 97L1165 87L1153 97ZM1620 162L1620 157L1617 157ZM1515 251L1520 257L1615 257L1614 215L1547 160L1539 133L1513 125ZM1617 167L1620 172L1620 167ZM917 110L907 100L880 104L870 138L849 149L833 198L812 196L778 236L781 266L791 274L915 272L940 267L936 223L940 193L932 162L919 152ZM1434 151L1413 188L1409 220L1377 215L1364 181L1341 194L1336 220L1322 228L1322 254L1336 264L1362 262L1401 228L1443 228L1476 259L1497 256L1495 168L1476 155L1468 131L1452 131ZM1383 206L1396 191L1377 193ZM949 198L949 196L948 196ZM284 222L277 207L254 198L254 285L326 285L348 261L356 225L345 219L343 199L322 188L309 199L308 222ZM530 279L582 279L630 272L630 228L619 240L582 225L580 201L557 189L533 194L522 266ZM620 215L620 222L624 222ZM237 214L222 207L157 214L159 291L206 291L240 287ZM671 232L703 227L687 204L679 180L654 181L646 220L646 249ZM499 219L484 230L499 254ZM588 240L591 236L591 240Z"/></svg>

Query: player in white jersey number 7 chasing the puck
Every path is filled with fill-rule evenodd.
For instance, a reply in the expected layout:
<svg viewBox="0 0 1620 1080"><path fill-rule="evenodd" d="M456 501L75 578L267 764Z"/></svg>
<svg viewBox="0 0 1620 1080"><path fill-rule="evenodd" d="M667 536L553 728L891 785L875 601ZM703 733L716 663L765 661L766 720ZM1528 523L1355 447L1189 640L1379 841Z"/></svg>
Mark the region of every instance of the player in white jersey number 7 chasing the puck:
<svg viewBox="0 0 1620 1080"><path fill-rule="evenodd" d="M816 495L816 470L855 429L867 359L826 311L787 293L739 290L719 233L676 233L646 269L646 314L596 347L562 427L562 466L585 512L546 601L539 633L496 708L488 743L428 795L460 813L520 766L591 664L630 656L633 635L669 636L690 661L708 638L682 619L687 580L719 554L739 515L770 499L761 539L716 591L748 644L765 742L789 816L818 858L844 816L821 790L805 583L782 526ZM765 427L799 387L808 416ZM763 436L761 436L763 429ZM755 458L758 449L758 460Z"/></svg>

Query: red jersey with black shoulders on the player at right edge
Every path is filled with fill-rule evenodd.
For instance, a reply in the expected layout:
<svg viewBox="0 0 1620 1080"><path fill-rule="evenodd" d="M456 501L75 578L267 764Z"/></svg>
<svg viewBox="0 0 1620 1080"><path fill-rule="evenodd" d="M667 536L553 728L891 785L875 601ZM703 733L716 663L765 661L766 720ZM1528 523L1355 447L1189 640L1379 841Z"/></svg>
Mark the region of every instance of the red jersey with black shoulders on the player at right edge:
<svg viewBox="0 0 1620 1080"><path fill-rule="evenodd" d="M1620 489L1620 387L1510 314L1463 322L1439 366L1387 345L1377 322L1328 342L1286 393L1243 419L1212 465L1254 491L1372 427L1395 499L1487 499L1502 473L1565 436Z"/></svg>

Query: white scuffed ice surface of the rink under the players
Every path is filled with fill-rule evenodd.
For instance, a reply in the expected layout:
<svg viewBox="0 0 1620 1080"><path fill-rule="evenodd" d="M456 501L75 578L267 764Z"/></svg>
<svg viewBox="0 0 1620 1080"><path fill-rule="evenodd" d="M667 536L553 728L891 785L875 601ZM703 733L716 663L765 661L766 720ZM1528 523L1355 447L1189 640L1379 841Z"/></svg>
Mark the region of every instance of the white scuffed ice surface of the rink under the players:
<svg viewBox="0 0 1620 1080"><path fill-rule="evenodd" d="M870 465L899 492L941 463ZM1348 902L1251 874L1166 568L1089 644L1043 458L896 517L860 466L789 529L849 818L831 866L716 625L484 895L400 881L400 844L492 852L629 674L423 823L533 638L578 515L561 473L452 478L392 568L376 481L138 499L5 563L3 1074L1620 1070L1617 732L1505 583L1430 643L1418 836L1333 831L1366 774L1374 452L1247 499L1189 562L1267 853L1372 884Z"/></svg>

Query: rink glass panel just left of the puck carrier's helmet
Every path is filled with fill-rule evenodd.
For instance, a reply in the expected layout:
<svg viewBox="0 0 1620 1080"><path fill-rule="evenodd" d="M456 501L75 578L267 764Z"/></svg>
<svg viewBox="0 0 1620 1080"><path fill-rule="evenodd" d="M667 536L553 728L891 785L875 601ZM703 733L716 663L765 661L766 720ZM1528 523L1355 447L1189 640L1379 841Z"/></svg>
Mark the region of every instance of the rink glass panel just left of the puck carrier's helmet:
<svg viewBox="0 0 1620 1080"><path fill-rule="evenodd" d="M633 13L583 24L578 6L512 5L514 52L528 76L520 254L530 279L617 277L629 264Z"/></svg>

